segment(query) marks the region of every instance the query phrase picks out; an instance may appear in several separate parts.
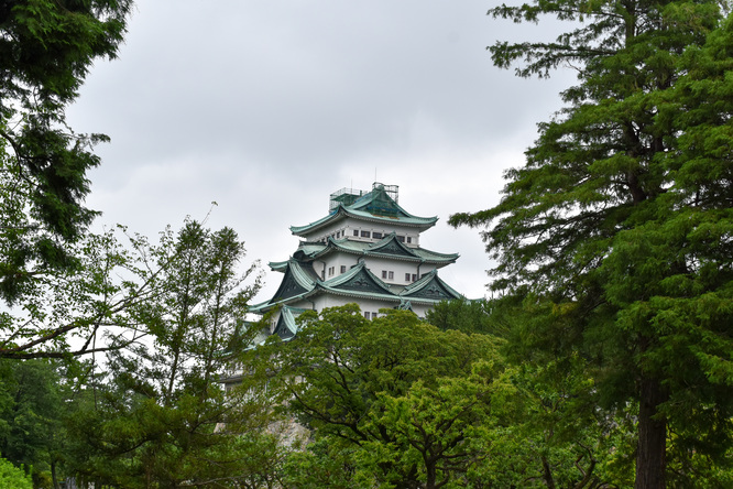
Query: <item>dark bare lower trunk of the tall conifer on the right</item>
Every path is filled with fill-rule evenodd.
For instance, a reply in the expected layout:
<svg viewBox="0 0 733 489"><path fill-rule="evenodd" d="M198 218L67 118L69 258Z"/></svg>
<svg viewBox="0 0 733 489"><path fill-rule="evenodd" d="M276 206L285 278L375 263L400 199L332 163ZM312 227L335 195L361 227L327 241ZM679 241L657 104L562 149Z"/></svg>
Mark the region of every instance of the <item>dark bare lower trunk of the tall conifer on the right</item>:
<svg viewBox="0 0 733 489"><path fill-rule="evenodd" d="M642 379L641 394L634 489L665 489L667 420L654 416L667 394L657 379L647 378Z"/></svg>

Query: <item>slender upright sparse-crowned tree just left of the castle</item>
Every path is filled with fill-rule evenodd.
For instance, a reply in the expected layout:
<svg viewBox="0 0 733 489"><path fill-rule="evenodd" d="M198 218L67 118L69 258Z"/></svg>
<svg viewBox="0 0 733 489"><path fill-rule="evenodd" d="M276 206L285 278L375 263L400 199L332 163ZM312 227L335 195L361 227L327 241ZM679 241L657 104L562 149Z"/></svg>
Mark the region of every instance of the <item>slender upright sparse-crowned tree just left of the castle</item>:
<svg viewBox="0 0 733 489"><path fill-rule="evenodd" d="M157 294L127 314L149 335L110 350L94 398L72 421L81 442L75 472L130 488L269 481L252 464L277 459L276 438L263 431L267 399L220 383L254 333L244 316L258 282L245 283L254 269L238 272L243 243L229 228L187 221L160 246L140 246L156 263L146 280Z"/></svg>

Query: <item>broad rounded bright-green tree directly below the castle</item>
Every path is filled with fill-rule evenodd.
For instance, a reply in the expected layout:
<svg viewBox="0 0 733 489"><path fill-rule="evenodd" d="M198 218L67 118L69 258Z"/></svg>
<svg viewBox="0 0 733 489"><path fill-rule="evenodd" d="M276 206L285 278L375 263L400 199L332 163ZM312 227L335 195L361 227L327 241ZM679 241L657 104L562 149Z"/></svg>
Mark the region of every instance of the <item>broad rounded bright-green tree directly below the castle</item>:
<svg viewBox="0 0 733 489"><path fill-rule="evenodd" d="M382 313L366 320L354 304L306 312L293 340L256 354L278 370L271 385L282 382L288 410L353 470L338 483L458 483L479 459L478 436L470 439L488 423L492 377L481 367L495 360L495 339Z"/></svg>

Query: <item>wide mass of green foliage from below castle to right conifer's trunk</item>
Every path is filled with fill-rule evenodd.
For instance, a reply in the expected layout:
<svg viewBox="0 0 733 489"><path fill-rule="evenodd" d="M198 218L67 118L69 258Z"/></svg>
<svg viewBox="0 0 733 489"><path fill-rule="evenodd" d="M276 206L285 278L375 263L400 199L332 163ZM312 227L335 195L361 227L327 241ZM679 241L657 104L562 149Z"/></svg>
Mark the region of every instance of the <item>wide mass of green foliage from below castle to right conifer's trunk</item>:
<svg viewBox="0 0 733 489"><path fill-rule="evenodd" d="M507 332L524 322L502 301L489 309L486 324ZM283 389L287 411L311 430L307 450L287 456L286 487L581 489L633 480L637 413L599 410L581 358L546 361L513 340L383 313L371 322L355 305L304 313L294 339L252 351L270 389ZM469 324L473 313L452 317Z"/></svg>

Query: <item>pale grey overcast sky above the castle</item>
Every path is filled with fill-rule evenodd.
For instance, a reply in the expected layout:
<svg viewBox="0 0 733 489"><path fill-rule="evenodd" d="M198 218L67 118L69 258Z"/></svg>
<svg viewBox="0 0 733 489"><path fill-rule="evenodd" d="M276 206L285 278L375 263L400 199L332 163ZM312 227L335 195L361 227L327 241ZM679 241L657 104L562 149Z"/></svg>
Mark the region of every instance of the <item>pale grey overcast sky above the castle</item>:
<svg viewBox="0 0 733 489"><path fill-rule="evenodd" d="M543 37L485 15L479 0L140 0L119 58L98 62L68 112L103 132L87 204L98 225L151 237L185 216L234 228L265 287L282 275L291 225L324 217L328 196L374 181L438 216L424 248L461 254L440 276L485 295L475 229L453 213L494 205L569 73L526 80L493 67L496 40Z"/></svg>

